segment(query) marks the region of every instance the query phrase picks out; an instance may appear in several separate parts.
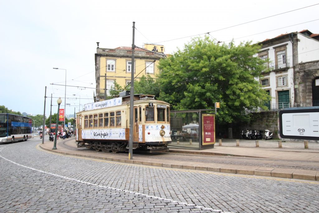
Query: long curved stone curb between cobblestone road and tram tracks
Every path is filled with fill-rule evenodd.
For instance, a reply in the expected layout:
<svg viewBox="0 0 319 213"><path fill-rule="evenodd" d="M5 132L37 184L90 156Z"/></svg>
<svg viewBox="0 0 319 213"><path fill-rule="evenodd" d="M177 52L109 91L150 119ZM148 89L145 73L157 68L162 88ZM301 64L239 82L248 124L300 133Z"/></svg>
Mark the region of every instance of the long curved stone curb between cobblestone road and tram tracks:
<svg viewBox="0 0 319 213"><path fill-rule="evenodd" d="M186 170L197 170L197 171L213 171L213 172L223 172L231 174L241 174L241 175L255 175L264 177L274 177L274 178L288 178L288 179L301 179L301 180L311 180L319 181L319 171L312 170L301 170L301 169L283 169L283 168L273 168L273 167L258 167L258 166L242 166L242 165L230 165L230 164L211 164L211 163L199 163L199 162L185 162L185 161L172 161L172 163L158 163L154 160L126 160L114 157L102 157L102 156L91 156L85 154L74 154L63 151L56 151L48 148L44 148L39 144L39 147L43 150L62 154L69 156L87 157L92 159L114 161L120 163L137 164L137 165L148 165L148 166L158 166L163 168L173 168L173 169L186 169ZM187 153L186 151L185 153ZM177 153L177 151L176 151ZM184 152L182 152L184 153Z"/></svg>

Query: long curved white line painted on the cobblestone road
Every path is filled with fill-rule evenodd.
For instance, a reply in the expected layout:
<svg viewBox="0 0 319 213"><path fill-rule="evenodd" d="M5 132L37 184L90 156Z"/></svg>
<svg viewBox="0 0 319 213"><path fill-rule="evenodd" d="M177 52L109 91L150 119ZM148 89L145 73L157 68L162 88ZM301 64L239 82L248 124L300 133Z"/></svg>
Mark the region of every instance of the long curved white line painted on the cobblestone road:
<svg viewBox="0 0 319 213"><path fill-rule="evenodd" d="M10 145L12 145L12 144L10 144ZM10 146L10 145L8 145L8 146ZM7 146L5 146L5 147L7 147ZM5 147L0 148L0 152ZM1 155L0 155L0 157L3 158L6 161L11 162L12 164L16 164L18 166L21 166L21 167L24 167L24 168L27 168L27 169L38 171L38 172L41 172L41 173L44 173L44 174L49 174L49 175L52 175L52 176L55 176L55 177L59 177L59 178L62 178L62 179L72 180L72 181L75 181L75 182L78 182L78 183L84 183L84 184L91 185L91 186L97 186L97 187L101 187L101 188L112 189L112 190L116 190L116 191L120 191L120 192L130 193L130 194L136 194L136 195L145 196L145 197L154 198L154 199L163 200L163 201L175 202L175 203L178 203L180 205L182 204L182 205L186 205L186 206L194 206L194 208L202 209L202 210L210 210L210 211L213 211L213 212L220 212L220 213L234 213L234 212L231 212L231 211L223 211L221 209L213 209L213 208L208 208L208 207L204 207L204 206L197 206L196 204L192 204L192 203L185 203L185 202L176 201L176 200L167 199L167 198L162 198L162 197L158 197L158 196L142 194L142 193L133 192L133 191L130 191L130 190L124 190L124 189L113 188L113 187L108 187L108 186L101 186L101 185L97 185L97 184L94 184L94 183L89 183L89 182L86 182L86 181L83 181L83 180L78 180L78 179L74 179L74 178L68 178L66 176L57 175L57 174L54 174L54 173L51 173L51 172L34 169L32 167L29 167L29 166L18 164L18 163L14 162L14 161L11 161L11 160L9 160L9 159L5 158L4 156L1 156Z"/></svg>

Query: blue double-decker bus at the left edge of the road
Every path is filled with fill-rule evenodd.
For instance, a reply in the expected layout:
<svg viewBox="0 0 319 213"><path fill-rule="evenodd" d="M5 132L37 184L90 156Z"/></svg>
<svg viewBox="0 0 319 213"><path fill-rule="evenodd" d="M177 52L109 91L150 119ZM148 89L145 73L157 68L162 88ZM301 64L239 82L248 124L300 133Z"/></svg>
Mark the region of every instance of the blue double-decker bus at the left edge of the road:
<svg viewBox="0 0 319 213"><path fill-rule="evenodd" d="M32 137L32 119L0 113L0 142L26 141Z"/></svg>

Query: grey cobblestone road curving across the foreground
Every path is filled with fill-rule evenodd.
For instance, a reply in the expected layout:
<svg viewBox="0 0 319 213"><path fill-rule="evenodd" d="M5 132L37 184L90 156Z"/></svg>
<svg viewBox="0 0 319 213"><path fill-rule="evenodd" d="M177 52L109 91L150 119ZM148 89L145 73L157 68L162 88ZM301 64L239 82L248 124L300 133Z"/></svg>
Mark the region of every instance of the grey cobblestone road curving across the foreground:
<svg viewBox="0 0 319 213"><path fill-rule="evenodd" d="M56 155L0 145L0 212L318 212L319 184Z"/></svg>

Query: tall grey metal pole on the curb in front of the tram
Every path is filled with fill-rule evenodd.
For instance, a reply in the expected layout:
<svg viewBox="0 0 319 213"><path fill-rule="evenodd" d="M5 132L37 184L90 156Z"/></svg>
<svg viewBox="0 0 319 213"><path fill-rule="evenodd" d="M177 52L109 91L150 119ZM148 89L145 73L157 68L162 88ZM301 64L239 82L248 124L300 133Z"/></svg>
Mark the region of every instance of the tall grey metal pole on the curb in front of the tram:
<svg viewBox="0 0 319 213"><path fill-rule="evenodd" d="M130 89L130 140L129 140L129 160L133 159L133 130L134 130L134 30L135 21L133 21L133 39L132 39L132 61L131 61L131 89Z"/></svg>

